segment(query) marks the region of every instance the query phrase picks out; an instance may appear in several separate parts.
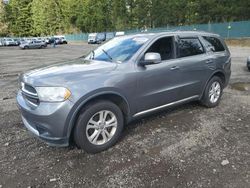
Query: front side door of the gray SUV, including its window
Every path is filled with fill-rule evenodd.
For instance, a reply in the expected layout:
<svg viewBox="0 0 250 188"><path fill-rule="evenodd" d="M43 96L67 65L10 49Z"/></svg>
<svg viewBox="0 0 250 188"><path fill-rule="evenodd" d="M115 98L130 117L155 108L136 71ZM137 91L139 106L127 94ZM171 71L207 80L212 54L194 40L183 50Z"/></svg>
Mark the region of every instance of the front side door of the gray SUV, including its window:
<svg viewBox="0 0 250 188"><path fill-rule="evenodd" d="M144 53L155 52L161 55L159 64L137 65L137 112L177 101L180 90L177 85L179 64L175 59L174 37L163 37L156 40ZM141 61L144 59L142 56Z"/></svg>

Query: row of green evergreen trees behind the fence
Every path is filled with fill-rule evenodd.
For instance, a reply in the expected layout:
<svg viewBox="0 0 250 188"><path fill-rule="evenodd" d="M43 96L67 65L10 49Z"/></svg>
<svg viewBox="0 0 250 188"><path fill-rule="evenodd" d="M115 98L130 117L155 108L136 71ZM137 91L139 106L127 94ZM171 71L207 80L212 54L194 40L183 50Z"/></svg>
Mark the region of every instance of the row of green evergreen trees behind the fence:
<svg viewBox="0 0 250 188"><path fill-rule="evenodd" d="M0 35L46 36L250 19L249 0L9 0Z"/></svg>

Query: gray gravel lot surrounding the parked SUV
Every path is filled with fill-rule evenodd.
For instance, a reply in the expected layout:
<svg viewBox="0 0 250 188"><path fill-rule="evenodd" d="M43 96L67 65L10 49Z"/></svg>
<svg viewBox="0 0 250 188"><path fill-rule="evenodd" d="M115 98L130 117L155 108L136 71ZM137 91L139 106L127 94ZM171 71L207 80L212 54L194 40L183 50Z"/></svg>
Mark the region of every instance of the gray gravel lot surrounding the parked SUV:
<svg viewBox="0 0 250 188"><path fill-rule="evenodd" d="M18 74L94 47L0 47L0 188L250 187L248 47L230 48L232 77L216 108L191 103L133 122L118 144L96 155L33 138L16 107Z"/></svg>

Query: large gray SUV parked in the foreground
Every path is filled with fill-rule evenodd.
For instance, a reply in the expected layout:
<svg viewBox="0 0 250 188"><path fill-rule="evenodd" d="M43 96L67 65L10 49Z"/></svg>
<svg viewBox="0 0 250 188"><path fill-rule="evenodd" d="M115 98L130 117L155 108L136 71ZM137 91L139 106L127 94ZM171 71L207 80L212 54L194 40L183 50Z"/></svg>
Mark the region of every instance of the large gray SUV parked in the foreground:
<svg viewBox="0 0 250 188"><path fill-rule="evenodd" d="M230 74L230 52L216 34L128 35L84 58L23 74L17 102L40 139L96 153L135 118L190 101L217 106Z"/></svg>

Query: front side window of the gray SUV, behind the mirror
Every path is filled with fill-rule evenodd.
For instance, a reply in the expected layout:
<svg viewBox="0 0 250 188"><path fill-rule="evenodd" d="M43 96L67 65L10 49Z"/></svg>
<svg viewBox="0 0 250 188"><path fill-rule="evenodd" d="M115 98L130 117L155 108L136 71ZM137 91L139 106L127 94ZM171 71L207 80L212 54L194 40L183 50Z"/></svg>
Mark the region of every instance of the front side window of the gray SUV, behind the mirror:
<svg viewBox="0 0 250 188"><path fill-rule="evenodd" d="M173 59L174 58L173 37L164 37L158 39L149 47L149 49L145 52L145 54L149 52L159 53L161 55L162 61Z"/></svg>

